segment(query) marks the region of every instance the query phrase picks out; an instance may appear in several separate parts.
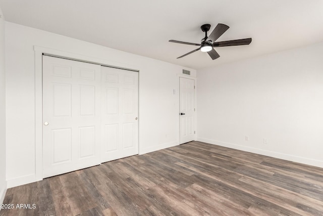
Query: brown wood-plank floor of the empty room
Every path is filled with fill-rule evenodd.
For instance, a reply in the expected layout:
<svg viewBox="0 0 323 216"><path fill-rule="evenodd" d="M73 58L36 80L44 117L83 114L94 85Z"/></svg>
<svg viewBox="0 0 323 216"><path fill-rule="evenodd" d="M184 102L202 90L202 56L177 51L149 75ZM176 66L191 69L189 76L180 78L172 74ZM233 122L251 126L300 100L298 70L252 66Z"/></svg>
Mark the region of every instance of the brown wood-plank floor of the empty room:
<svg viewBox="0 0 323 216"><path fill-rule="evenodd" d="M190 142L10 188L4 204L15 208L0 215L323 215L323 168Z"/></svg>

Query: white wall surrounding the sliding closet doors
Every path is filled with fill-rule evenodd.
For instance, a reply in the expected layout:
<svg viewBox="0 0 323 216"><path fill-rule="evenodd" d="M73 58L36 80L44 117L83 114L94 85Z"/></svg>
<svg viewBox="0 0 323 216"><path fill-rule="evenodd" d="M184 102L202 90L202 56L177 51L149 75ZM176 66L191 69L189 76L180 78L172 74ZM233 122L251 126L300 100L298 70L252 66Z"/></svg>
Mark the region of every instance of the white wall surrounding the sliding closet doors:
<svg viewBox="0 0 323 216"><path fill-rule="evenodd" d="M139 69L140 153L179 144L173 89L178 92L183 67L6 22L8 187L36 180L34 45Z"/></svg>

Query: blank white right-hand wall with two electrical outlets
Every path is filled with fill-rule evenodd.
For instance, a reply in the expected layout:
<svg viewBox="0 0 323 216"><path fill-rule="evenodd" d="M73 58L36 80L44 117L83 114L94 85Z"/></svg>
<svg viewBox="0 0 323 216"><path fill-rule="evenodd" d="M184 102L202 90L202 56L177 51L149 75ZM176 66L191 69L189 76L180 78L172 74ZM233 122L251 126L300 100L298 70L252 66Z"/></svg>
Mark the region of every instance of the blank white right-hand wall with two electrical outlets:
<svg viewBox="0 0 323 216"><path fill-rule="evenodd" d="M198 70L197 139L323 167L322 59L320 43Z"/></svg>

